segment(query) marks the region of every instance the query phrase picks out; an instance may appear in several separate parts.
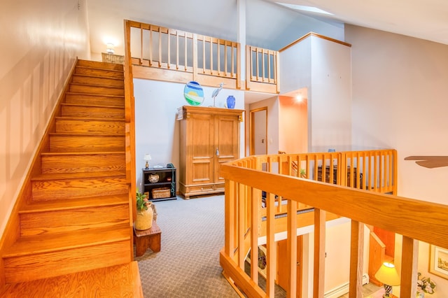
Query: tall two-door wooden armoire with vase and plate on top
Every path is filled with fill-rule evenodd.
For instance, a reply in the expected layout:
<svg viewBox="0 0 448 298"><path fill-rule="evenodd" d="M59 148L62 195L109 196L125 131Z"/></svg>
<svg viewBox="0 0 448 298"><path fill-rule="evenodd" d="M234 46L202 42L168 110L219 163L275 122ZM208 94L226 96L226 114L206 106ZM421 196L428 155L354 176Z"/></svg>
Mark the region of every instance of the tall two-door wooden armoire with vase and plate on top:
<svg viewBox="0 0 448 298"><path fill-rule="evenodd" d="M224 192L219 166L239 158L243 110L204 106L179 108L179 192L190 196Z"/></svg>

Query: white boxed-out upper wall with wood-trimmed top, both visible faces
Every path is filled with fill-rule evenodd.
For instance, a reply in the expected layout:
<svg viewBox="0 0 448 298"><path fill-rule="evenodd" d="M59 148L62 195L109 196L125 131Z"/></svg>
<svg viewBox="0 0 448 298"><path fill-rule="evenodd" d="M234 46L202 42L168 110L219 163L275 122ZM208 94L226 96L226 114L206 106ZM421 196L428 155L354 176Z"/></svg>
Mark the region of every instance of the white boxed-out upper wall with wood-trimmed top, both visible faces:
<svg viewBox="0 0 448 298"><path fill-rule="evenodd" d="M281 92L308 90L310 152L351 149L350 48L316 36L281 51Z"/></svg>

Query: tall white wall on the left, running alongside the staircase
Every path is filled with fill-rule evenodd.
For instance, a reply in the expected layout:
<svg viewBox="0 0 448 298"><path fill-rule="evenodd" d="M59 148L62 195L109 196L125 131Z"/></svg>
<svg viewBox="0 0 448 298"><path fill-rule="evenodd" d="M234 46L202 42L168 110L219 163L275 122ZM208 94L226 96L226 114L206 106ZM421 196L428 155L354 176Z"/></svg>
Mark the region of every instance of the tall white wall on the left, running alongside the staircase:
<svg viewBox="0 0 448 298"><path fill-rule="evenodd" d="M76 56L90 57L87 7L79 3L1 2L1 233Z"/></svg>

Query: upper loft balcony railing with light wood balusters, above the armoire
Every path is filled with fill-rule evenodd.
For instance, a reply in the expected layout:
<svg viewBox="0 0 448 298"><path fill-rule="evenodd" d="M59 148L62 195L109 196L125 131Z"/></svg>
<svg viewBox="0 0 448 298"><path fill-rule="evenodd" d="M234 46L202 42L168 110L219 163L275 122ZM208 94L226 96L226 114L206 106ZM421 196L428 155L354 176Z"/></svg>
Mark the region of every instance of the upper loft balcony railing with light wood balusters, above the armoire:
<svg viewBox="0 0 448 298"><path fill-rule="evenodd" d="M241 85L241 45L235 41L130 20L125 35L125 59L134 78L279 92L279 52L246 48L246 87Z"/></svg>

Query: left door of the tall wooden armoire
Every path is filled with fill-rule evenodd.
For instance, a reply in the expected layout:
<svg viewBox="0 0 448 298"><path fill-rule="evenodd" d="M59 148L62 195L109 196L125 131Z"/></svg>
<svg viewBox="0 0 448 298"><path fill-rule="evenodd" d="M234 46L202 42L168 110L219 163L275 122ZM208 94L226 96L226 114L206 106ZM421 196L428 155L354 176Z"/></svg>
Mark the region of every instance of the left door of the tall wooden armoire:
<svg viewBox="0 0 448 298"><path fill-rule="evenodd" d="M213 115L192 113L187 125L186 184L213 183L214 180L214 118Z"/></svg>

